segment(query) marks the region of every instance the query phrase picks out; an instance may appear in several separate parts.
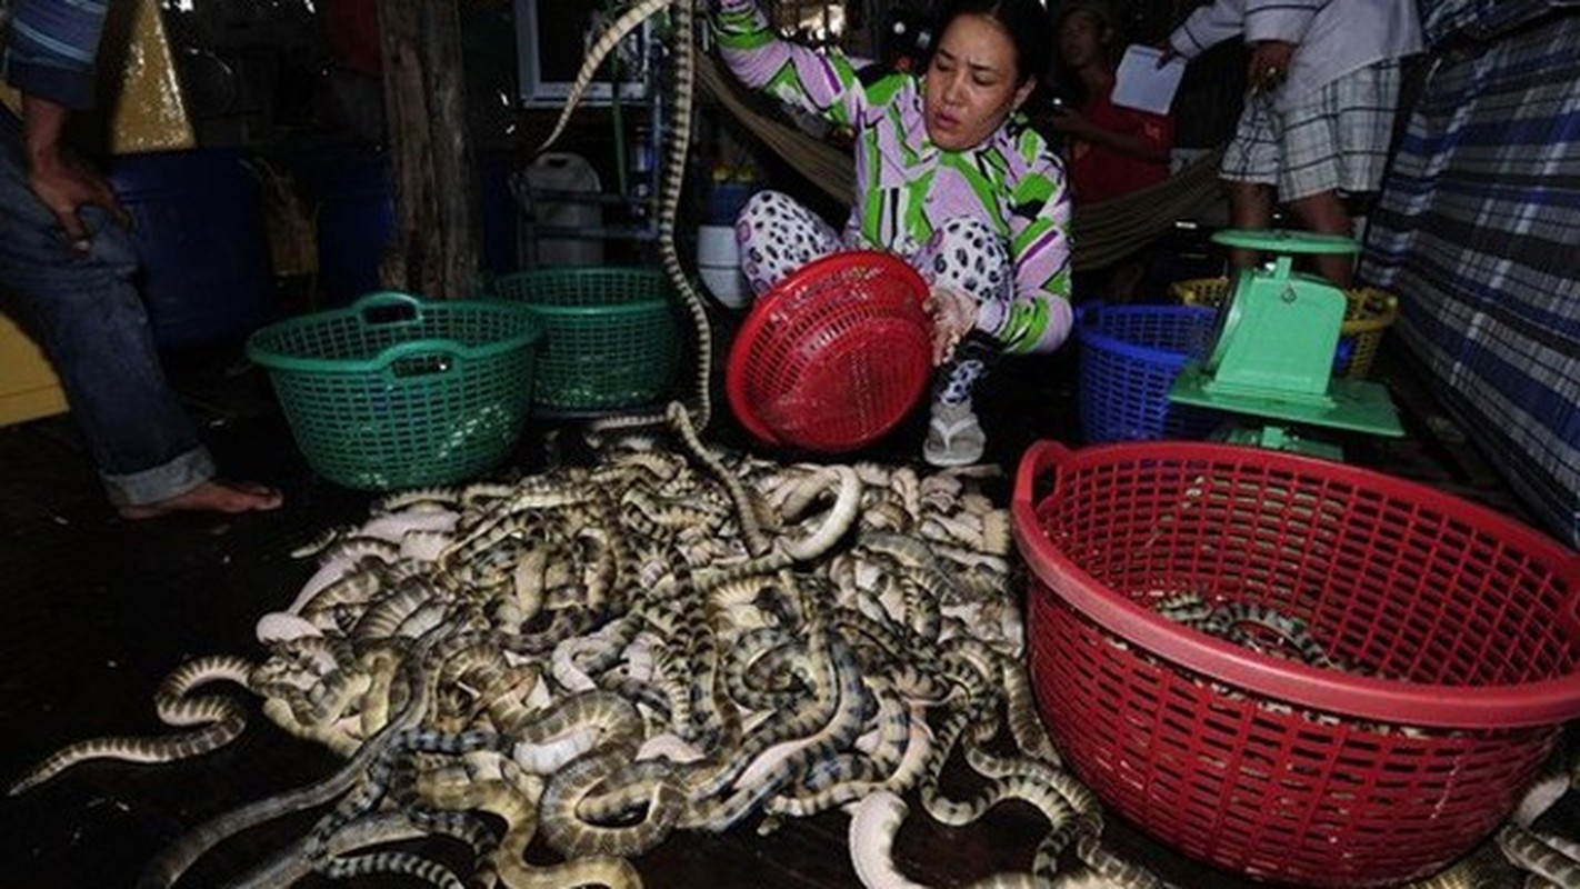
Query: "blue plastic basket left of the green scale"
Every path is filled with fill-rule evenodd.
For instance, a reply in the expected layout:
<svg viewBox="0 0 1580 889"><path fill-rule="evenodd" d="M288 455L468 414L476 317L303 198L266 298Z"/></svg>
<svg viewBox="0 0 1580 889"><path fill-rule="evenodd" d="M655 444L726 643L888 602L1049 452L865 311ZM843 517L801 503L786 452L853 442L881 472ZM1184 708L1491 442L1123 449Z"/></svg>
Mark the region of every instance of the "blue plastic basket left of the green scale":
<svg viewBox="0 0 1580 889"><path fill-rule="evenodd" d="M1185 362L1212 347L1215 314L1152 305L1078 309L1082 437L1089 444L1204 439L1224 422L1218 411L1169 401Z"/></svg>

